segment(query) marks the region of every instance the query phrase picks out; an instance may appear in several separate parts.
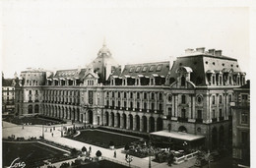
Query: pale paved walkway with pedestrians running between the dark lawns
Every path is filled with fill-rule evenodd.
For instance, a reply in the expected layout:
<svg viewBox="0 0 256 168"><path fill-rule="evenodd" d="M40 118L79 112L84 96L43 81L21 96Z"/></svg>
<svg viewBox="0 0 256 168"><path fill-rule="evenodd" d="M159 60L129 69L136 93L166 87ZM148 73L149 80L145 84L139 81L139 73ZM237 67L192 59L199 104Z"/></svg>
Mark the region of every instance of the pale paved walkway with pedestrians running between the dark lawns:
<svg viewBox="0 0 256 168"><path fill-rule="evenodd" d="M72 127L71 124L66 124L63 126ZM112 160L115 160L116 162L126 163L125 154L121 153L121 150L123 148L116 149L116 158L114 158L113 157L114 150L98 147L96 145L88 144L88 143L81 142L81 141L61 138L61 132L60 132L61 125L57 125L54 127L55 127L55 131L52 131L53 137L50 133L50 128L53 128L53 126L47 127L47 132L44 132L44 138L46 140L52 140L56 143L68 145L72 148L75 147L80 150L82 149L83 146L86 146L88 149L91 146L92 147L92 156L95 156L96 151L100 150L102 153L102 156L110 158ZM46 127L44 128L44 130L46 130ZM3 134L2 135L3 135L3 138L8 138L8 136L11 136L11 135L15 135L16 138L17 137L24 137L25 139L28 139L29 137L38 138L39 136L42 135L42 127L41 126L25 126L23 129L22 126L17 126L15 124L11 124L11 123L7 123L7 122L3 121ZM153 159L153 157L152 157L152 159ZM193 166L194 163L195 163L195 159L191 159L191 160L186 161L179 165L172 165L171 167L186 168L186 167ZM166 163L159 164L159 163L152 161L151 164L152 164L152 167L156 167L156 168L168 167ZM142 167L142 168L149 167L149 157L146 157L146 158L133 157L133 161L131 162L131 165L137 166L137 167Z"/></svg>

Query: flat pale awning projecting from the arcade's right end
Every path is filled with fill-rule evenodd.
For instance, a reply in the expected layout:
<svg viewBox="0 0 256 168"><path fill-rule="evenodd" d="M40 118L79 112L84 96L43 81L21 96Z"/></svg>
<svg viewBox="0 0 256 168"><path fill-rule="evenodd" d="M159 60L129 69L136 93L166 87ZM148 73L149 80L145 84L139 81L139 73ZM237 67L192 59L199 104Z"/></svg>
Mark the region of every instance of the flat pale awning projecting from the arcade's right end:
<svg viewBox="0 0 256 168"><path fill-rule="evenodd" d="M151 133L151 135L177 139L177 140L187 140L187 141L200 140L205 138L204 136L199 136L199 135L192 135L192 134L181 133L181 132L168 132L168 131L155 132L155 133Z"/></svg>

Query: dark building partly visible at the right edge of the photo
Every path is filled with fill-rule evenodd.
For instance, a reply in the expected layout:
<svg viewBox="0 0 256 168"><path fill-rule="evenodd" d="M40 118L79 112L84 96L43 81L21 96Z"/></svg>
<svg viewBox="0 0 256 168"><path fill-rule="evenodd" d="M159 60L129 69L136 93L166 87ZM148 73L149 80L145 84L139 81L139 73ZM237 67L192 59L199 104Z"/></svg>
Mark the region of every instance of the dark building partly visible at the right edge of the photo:
<svg viewBox="0 0 256 168"><path fill-rule="evenodd" d="M234 165L250 166L250 83L234 88L232 146Z"/></svg>

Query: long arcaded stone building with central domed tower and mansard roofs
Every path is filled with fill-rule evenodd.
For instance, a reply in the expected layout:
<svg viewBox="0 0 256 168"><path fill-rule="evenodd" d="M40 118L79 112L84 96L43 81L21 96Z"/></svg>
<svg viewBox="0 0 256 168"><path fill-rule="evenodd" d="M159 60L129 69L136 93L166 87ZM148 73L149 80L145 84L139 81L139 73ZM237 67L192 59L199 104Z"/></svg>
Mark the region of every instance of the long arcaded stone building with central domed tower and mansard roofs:
<svg viewBox="0 0 256 168"><path fill-rule="evenodd" d="M39 113L134 132L200 135L209 149L231 144L233 88L245 84L236 59L205 48L187 49L170 62L122 68L103 44L85 69L40 73L21 74L16 89L21 115Z"/></svg>

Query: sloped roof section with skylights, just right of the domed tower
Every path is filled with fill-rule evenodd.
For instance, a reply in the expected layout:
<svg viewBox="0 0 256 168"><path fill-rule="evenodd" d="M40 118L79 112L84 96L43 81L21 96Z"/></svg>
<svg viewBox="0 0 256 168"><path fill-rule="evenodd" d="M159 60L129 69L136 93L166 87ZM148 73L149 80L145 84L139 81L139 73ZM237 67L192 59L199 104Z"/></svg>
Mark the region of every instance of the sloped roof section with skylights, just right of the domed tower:
<svg viewBox="0 0 256 168"><path fill-rule="evenodd" d="M169 62L155 62L155 63L143 63L143 64L129 64L125 65L123 71L117 68L112 76L121 77L150 77L150 76L160 76L166 77L169 71Z"/></svg>

